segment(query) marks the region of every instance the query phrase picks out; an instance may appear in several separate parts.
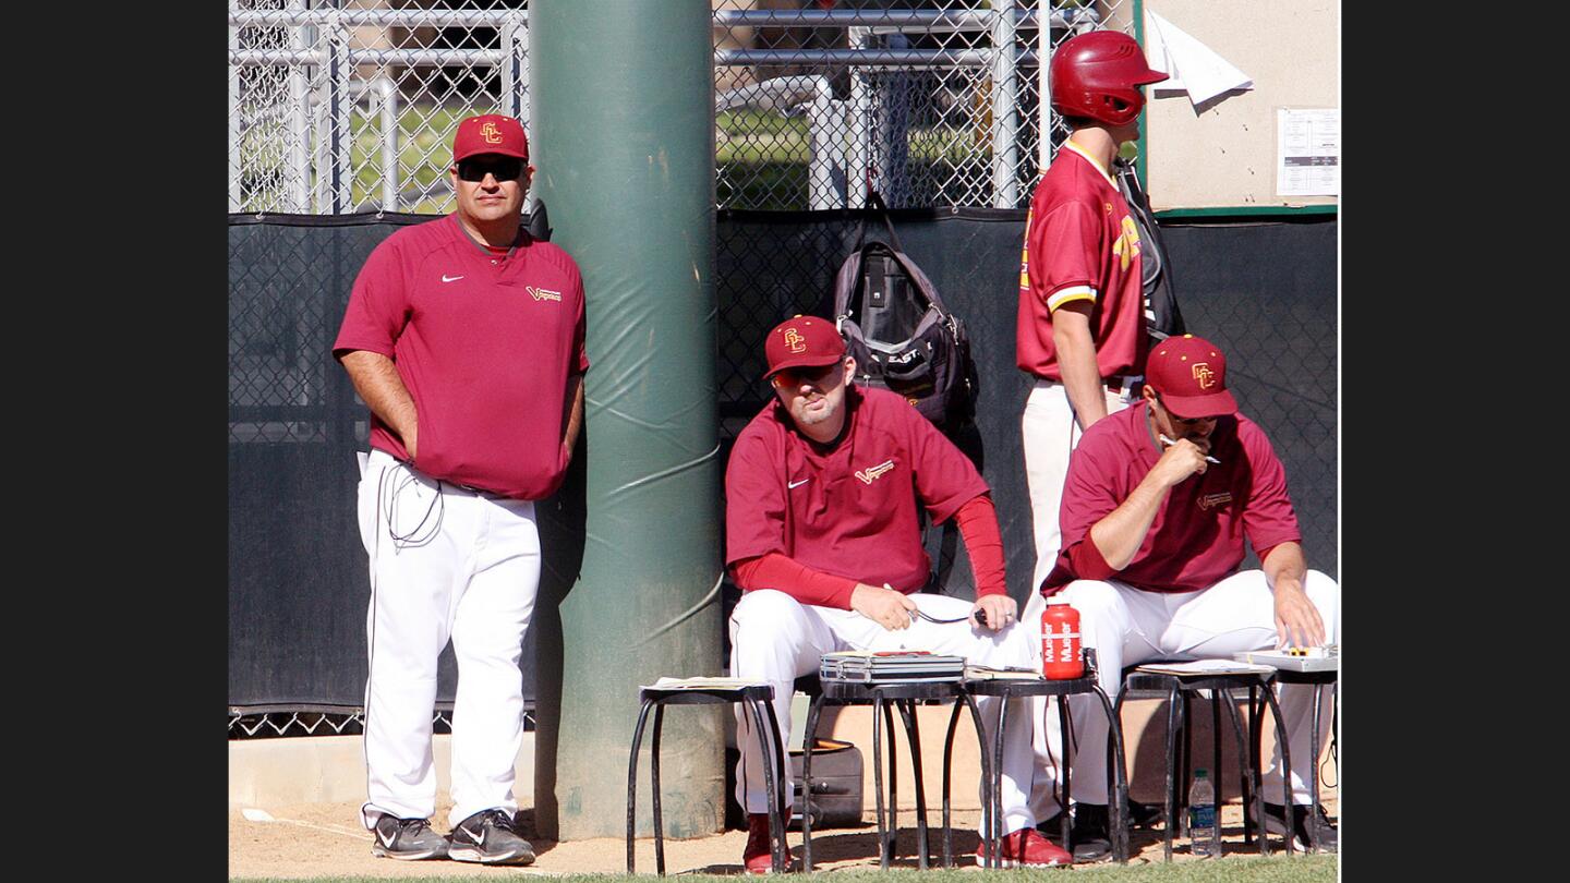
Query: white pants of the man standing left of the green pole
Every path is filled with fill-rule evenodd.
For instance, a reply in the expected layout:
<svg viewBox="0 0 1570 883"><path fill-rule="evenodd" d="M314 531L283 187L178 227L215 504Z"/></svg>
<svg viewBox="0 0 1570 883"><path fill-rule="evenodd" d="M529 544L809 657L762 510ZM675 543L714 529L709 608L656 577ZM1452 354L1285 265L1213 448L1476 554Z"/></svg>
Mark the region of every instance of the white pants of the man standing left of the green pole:
<svg viewBox="0 0 1570 883"><path fill-rule="evenodd" d="M436 482L372 451L360 476L360 537L371 561L361 822L436 809L432 713L449 638L458 661L449 823L491 808L517 812L518 658L540 584L534 503Z"/></svg>

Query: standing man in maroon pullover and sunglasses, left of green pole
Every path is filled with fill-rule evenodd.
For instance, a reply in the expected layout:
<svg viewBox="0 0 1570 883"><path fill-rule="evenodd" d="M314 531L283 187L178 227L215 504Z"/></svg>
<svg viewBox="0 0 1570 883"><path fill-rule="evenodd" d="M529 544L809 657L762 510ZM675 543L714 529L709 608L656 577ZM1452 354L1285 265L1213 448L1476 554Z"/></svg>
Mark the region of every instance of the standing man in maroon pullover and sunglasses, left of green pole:
<svg viewBox="0 0 1570 883"><path fill-rule="evenodd" d="M377 245L333 344L371 407L361 822L378 856L534 861L513 795L518 660L540 583L534 501L565 476L589 358L578 264L521 223L532 173L517 119L458 123L457 211ZM451 844L430 828L436 658L449 638Z"/></svg>

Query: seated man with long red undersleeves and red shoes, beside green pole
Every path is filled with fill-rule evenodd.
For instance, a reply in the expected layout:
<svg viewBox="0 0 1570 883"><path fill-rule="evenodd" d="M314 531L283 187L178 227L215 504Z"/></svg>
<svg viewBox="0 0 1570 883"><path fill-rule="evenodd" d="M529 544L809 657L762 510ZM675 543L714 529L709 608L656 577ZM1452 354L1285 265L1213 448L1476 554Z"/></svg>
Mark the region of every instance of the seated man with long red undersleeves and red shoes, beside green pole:
<svg viewBox="0 0 1570 883"><path fill-rule="evenodd" d="M997 512L975 465L901 396L851 383L856 360L834 322L787 319L769 332L765 355L772 399L736 437L725 467L725 562L744 592L730 614L730 674L771 683L788 732L791 683L816 672L826 652L920 649L1030 666L1030 633L1017 625L1005 586ZM973 603L917 594L931 573L918 506L934 523L959 526L975 570ZM983 712L983 721L995 718ZM1010 724L1002 863L1066 864L1068 853L1036 833L1027 806L1030 721L1020 715ZM739 713L736 732L743 864L763 874L769 795L761 753Z"/></svg>

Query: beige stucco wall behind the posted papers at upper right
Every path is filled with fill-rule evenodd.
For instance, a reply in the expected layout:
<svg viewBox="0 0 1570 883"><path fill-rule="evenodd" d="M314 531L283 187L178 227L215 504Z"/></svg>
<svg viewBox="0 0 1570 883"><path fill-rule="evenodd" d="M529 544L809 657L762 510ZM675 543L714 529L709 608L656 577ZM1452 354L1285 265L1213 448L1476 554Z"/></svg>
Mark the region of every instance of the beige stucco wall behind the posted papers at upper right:
<svg viewBox="0 0 1570 883"><path fill-rule="evenodd" d="M1341 107L1336 0L1146 0L1148 11L1209 46L1253 90L1195 108L1187 96L1146 104L1145 184L1163 209L1336 204L1278 196L1276 108Z"/></svg>

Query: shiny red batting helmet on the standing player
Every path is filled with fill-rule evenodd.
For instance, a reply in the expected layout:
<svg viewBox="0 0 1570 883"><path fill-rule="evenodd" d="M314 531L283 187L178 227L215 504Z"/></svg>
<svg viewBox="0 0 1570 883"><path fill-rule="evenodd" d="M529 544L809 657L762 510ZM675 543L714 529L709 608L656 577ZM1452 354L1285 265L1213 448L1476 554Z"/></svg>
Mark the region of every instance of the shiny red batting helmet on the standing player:
<svg viewBox="0 0 1570 883"><path fill-rule="evenodd" d="M1063 41L1052 53L1052 108L1064 116L1090 116L1123 126L1145 107L1140 86L1167 74L1152 71L1132 36L1090 31Z"/></svg>

